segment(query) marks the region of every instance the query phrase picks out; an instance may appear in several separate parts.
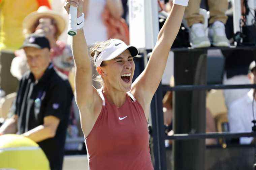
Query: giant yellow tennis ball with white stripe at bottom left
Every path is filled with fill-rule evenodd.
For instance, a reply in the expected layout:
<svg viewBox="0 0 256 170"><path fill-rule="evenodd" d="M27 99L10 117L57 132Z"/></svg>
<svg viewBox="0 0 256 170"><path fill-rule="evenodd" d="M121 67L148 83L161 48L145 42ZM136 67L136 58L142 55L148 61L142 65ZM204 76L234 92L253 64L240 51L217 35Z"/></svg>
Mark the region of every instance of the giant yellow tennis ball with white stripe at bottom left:
<svg viewBox="0 0 256 170"><path fill-rule="evenodd" d="M22 135L0 136L0 169L50 170L43 150L33 140Z"/></svg>

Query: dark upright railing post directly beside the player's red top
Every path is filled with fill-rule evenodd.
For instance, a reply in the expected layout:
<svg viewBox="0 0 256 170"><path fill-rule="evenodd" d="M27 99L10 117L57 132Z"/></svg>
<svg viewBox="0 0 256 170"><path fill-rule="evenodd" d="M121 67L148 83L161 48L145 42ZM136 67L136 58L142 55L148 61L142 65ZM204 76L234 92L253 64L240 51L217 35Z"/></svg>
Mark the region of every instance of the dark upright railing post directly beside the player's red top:
<svg viewBox="0 0 256 170"><path fill-rule="evenodd" d="M162 99L162 84L160 83L151 102L155 170L166 170Z"/></svg>

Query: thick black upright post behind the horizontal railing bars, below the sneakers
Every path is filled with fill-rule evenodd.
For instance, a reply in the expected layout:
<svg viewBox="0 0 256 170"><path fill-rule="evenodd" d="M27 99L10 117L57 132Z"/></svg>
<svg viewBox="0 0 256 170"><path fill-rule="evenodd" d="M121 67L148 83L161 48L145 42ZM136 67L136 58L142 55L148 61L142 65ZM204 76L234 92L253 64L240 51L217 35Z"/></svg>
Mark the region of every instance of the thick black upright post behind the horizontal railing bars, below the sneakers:
<svg viewBox="0 0 256 170"><path fill-rule="evenodd" d="M174 52L174 83L205 85L207 50ZM205 90L174 92L174 134L205 133ZM173 170L203 170L205 139L174 141Z"/></svg>

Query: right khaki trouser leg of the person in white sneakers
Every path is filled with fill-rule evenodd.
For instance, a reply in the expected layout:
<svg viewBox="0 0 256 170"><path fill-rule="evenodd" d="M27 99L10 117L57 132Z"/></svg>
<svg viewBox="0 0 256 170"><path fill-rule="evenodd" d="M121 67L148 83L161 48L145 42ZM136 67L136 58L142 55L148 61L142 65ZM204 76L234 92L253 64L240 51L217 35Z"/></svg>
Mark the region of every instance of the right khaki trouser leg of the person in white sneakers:
<svg viewBox="0 0 256 170"><path fill-rule="evenodd" d="M226 24L228 17L225 15L225 12L228 9L228 1L208 0L208 5L210 11L209 24L213 24L215 21L221 21Z"/></svg>

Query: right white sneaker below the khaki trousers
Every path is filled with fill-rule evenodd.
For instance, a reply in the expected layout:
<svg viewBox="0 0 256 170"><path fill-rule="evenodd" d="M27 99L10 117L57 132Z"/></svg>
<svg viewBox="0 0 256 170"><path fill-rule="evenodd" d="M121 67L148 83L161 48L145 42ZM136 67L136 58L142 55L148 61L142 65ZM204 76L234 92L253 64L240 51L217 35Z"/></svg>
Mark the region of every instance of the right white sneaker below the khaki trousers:
<svg viewBox="0 0 256 170"><path fill-rule="evenodd" d="M209 38L214 46L229 47L230 43L225 32L225 25L220 21L215 21L209 28Z"/></svg>

